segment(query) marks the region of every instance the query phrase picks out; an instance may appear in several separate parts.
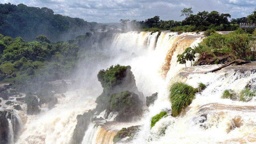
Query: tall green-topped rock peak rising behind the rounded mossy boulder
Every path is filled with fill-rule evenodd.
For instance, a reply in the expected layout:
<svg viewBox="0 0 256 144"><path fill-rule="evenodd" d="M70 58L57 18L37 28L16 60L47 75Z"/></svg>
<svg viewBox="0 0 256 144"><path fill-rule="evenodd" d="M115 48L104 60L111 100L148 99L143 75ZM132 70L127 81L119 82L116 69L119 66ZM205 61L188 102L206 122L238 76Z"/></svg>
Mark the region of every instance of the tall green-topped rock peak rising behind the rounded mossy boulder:
<svg viewBox="0 0 256 144"><path fill-rule="evenodd" d="M102 84L103 92L95 101L98 104L97 111L110 109L110 102L112 101L110 94L113 92L130 91L139 95L140 99L144 98L143 93L139 92L136 87L135 77L130 69L130 66L116 65L107 70L99 71L97 76Z"/></svg>

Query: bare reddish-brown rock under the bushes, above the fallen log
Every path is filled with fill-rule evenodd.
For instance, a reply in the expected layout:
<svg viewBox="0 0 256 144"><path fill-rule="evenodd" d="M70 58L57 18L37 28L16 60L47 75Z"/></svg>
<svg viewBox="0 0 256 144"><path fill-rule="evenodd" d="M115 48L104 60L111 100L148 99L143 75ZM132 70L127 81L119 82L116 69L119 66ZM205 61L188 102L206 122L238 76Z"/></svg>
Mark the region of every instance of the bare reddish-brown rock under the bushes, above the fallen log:
<svg viewBox="0 0 256 144"><path fill-rule="evenodd" d="M225 53L208 51L203 52L196 62L196 65L226 64L231 62L231 56Z"/></svg>

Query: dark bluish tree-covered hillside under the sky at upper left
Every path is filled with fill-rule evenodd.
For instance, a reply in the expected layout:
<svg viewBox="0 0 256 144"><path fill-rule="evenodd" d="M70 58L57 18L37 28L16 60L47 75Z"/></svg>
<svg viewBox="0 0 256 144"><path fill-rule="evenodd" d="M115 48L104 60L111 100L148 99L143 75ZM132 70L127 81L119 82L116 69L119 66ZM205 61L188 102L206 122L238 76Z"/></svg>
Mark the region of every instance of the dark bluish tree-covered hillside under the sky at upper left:
<svg viewBox="0 0 256 144"><path fill-rule="evenodd" d="M96 25L96 22L54 14L47 7L0 4L0 34L22 37L25 41L33 41L38 35L46 35L53 42L66 41L89 32Z"/></svg>

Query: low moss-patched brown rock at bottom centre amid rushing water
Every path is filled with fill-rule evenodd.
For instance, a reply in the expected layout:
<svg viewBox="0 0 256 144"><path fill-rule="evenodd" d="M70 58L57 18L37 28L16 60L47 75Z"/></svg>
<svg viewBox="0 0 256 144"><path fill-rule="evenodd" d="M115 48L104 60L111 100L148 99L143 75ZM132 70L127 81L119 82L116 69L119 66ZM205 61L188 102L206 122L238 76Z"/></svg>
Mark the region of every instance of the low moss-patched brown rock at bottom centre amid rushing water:
<svg viewBox="0 0 256 144"><path fill-rule="evenodd" d="M113 138L113 142L120 142L121 139L129 137L127 140L130 141L135 136L136 132L139 130L139 125L131 126L129 128L122 128Z"/></svg>

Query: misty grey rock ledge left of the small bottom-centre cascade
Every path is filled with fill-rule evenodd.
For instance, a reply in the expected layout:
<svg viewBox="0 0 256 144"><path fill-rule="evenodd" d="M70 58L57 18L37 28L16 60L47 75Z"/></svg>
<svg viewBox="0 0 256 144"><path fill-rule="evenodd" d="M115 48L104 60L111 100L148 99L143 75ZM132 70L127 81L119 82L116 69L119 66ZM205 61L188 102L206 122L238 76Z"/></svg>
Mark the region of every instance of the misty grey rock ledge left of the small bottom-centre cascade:
<svg viewBox="0 0 256 144"><path fill-rule="evenodd" d="M77 124L75 125L74 133L73 133L73 144L80 144L85 135L85 131L90 122L92 122L92 116L94 114L94 110L89 110L83 115L77 115Z"/></svg>

